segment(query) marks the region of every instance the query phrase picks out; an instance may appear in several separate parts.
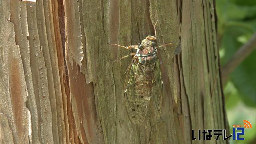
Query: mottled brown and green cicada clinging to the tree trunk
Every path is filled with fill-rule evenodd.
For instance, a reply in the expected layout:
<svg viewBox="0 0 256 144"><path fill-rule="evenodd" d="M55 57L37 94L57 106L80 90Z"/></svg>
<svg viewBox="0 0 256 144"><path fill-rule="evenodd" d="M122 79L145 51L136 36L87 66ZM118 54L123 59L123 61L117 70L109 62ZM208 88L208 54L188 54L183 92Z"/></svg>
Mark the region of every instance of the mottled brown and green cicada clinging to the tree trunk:
<svg viewBox="0 0 256 144"><path fill-rule="evenodd" d="M169 44L157 46L156 24L154 30L155 36L146 36L139 45L120 46L114 44L126 48L126 50L136 50L136 52L120 59L132 56L132 62L126 70L124 98L128 117L132 123L138 126L144 122L149 109L150 118L153 118L152 121L154 122L160 118L161 114L163 81L157 49Z"/></svg>

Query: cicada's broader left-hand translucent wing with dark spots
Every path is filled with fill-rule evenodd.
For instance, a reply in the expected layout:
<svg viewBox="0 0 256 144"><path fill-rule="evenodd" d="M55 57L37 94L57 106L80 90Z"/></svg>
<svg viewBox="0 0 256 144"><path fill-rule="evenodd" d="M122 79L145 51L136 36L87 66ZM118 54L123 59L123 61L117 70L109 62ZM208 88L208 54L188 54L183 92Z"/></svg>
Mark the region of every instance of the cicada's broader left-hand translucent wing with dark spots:
<svg viewBox="0 0 256 144"><path fill-rule="evenodd" d="M139 64L132 63L130 68L128 68L124 84L124 97L129 119L132 123L140 126L146 117L150 97L141 97L143 94L139 92L146 92L147 90L141 90L142 88L140 88L138 83L146 81L146 76L138 75L138 73L141 73Z"/></svg>

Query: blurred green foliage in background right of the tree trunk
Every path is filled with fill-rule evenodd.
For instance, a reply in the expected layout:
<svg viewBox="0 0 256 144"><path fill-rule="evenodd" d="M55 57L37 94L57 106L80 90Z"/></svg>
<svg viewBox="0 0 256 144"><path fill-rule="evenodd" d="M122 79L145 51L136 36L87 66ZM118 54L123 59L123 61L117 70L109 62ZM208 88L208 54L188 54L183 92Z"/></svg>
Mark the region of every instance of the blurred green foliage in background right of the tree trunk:
<svg viewBox="0 0 256 144"><path fill-rule="evenodd" d="M256 32L256 0L216 0L218 16L218 46L222 66ZM255 139L256 128L256 50L230 74L224 86L226 110L230 128L249 120L252 130L246 130L244 141ZM232 129L230 130L232 132Z"/></svg>

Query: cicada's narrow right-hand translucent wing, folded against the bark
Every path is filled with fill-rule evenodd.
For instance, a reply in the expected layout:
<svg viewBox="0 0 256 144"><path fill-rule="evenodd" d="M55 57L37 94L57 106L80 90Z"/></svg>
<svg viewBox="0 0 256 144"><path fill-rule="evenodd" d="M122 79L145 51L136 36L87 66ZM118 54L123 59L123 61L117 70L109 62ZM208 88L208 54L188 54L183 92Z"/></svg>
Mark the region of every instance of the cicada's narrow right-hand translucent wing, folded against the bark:
<svg viewBox="0 0 256 144"><path fill-rule="evenodd" d="M163 102L163 82L159 60L156 61L152 81L153 86L151 104L153 107L150 109L150 120L154 123L160 118Z"/></svg>

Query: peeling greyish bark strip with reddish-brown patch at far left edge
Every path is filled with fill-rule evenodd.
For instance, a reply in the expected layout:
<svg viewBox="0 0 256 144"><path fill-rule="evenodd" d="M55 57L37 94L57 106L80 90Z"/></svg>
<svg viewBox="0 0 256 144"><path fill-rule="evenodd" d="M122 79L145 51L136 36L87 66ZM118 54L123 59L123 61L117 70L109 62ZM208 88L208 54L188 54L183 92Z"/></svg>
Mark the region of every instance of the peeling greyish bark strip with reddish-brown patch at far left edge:
<svg viewBox="0 0 256 144"><path fill-rule="evenodd" d="M0 122L1 143L31 141L30 112L26 108L28 89L20 56L16 45L14 24L10 22L10 1L0 2ZM4 29L2 29L4 28Z"/></svg>

